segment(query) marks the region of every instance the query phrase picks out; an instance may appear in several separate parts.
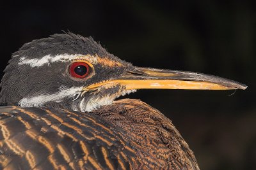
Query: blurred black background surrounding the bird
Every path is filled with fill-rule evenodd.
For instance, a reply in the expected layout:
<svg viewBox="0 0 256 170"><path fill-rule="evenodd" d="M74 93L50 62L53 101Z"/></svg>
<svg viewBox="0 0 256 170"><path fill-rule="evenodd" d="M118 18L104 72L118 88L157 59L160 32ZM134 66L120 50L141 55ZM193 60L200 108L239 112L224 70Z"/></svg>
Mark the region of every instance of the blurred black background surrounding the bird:
<svg viewBox="0 0 256 170"><path fill-rule="evenodd" d="M11 53L71 31L134 66L215 74L246 90L139 90L195 152L202 169L256 166L256 3L253 1L33 1L1 4L1 76Z"/></svg>

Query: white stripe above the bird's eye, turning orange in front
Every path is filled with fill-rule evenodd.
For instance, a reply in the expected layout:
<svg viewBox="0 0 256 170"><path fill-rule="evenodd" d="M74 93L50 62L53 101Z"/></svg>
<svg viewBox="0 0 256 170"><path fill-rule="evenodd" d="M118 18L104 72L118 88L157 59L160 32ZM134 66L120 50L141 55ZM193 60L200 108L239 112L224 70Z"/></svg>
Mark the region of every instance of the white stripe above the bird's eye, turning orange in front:
<svg viewBox="0 0 256 170"><path fill-rule="evenodd" d="M74 59L86 59L88 62L92 64L97 64L97 57L93 55L82 55L82 54L60 54L51 56L45 55L42 59L26 59L26 57L20 57L19 65L29 64L31 67L40 67L44 66L45 64L51 64L53 62L67 62Z"/></svg>

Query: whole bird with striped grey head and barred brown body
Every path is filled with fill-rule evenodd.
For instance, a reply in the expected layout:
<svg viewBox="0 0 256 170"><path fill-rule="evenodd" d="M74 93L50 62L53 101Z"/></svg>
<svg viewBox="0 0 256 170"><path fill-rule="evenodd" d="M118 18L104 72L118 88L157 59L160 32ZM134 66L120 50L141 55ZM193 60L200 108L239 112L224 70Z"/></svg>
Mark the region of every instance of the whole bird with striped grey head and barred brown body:
<svg viewBox="0 0 256 170"><path fill-rule="evenodd" d="M24 44L4 69L0 169L199 169L172 121L138 89L246 89L188 71L136 67L72 32Z"/></svg>

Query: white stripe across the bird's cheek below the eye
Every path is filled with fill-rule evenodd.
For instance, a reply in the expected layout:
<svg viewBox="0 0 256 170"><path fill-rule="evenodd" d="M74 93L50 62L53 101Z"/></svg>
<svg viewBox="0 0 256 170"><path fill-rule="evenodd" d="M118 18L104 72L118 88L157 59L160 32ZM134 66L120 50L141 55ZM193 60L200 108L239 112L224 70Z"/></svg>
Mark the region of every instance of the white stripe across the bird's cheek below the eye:
<svg viewBox="0 0 256 170"><path fill-rule="evenodd" d="M43 94L35 97L26 97L19 101L19 105L22 107L40 107L44 106L49 101L55 101L60 103L65 97L72 97L75 94L81 92L83 87L71 87L70 89L63 89L54 94ZM71 99L70 99L71 100Z"/></svg>

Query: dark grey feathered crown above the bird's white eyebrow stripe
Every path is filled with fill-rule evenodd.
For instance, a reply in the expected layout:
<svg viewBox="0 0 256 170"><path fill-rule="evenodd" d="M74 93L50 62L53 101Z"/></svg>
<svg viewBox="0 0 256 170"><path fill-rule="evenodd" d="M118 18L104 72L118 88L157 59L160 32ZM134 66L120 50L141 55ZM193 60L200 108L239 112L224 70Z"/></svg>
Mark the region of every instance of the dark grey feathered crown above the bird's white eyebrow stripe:
<svg viewBox="0 0 256 170"><path fill-rule="evenodd" d="M71 32L54 34L49 38L35 39L24 44L17 52L13 53L13 56L23 55L28 58L40 58L48 54L54 56L61 53L91 55L97 53L100 56L109 56L109 53L91 37L84 38Z"/></svg>

